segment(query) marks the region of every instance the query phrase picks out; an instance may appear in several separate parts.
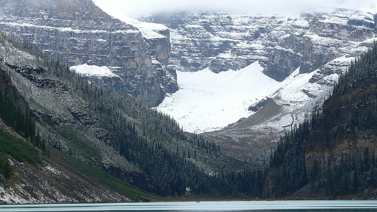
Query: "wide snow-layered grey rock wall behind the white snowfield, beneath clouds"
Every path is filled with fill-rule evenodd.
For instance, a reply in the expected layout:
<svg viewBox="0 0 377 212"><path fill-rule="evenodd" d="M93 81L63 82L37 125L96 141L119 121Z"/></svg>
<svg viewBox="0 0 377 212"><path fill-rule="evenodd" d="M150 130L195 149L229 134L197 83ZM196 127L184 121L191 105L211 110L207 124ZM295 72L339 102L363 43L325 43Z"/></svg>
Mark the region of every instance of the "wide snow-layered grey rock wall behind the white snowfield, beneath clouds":
<svg viewBox="0 0 377 212"><path fill-rule="evenodd" d="M302 12L299 17L216 12L153 14L142 17L170 29L171 61L177 70L241 69L256 60L277 81L300 68L322 68L374 37L375 15L337 9ZM327 75L332 73L326 73Z"/></svg>

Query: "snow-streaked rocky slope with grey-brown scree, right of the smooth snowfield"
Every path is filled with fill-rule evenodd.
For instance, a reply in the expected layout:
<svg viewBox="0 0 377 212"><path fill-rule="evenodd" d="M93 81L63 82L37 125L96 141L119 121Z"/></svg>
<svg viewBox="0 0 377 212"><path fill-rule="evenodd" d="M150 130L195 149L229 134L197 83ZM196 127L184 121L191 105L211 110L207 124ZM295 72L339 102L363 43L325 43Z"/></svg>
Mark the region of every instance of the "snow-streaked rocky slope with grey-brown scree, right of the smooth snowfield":
<svg viewBox="0 0 377 212"><path fill-rule="evenodd" d="M349 54L335 58L310 73L300 74L298 67L277 85L274 92L267 95L267 102L258 102L264 103L259 111L227 128L205 133L205 136L219 142L225 151L240 158L248 158L259 154L261 149L273 147L273 141L279 140L291 126L298 126L305 117L311 117L313 109L322 107L333 83L337 81L337 73L345 71L349 62L354 60L354 55L360 54L372 41L367 39L360 42L350 49ZM321 72L332 74L322 75Z"/></svg>

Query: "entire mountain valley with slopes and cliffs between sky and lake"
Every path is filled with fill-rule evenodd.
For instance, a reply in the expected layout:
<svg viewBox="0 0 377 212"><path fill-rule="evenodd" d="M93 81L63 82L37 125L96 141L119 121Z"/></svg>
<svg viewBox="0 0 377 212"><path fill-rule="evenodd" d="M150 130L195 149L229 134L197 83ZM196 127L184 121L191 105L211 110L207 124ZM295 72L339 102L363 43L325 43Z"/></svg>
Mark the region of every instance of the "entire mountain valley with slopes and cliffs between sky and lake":
<svg viewBox="0 0 377 212"><path fill-rule="evenodd" d="M377 199L377 13L0 6L0 204Z"/></svg>

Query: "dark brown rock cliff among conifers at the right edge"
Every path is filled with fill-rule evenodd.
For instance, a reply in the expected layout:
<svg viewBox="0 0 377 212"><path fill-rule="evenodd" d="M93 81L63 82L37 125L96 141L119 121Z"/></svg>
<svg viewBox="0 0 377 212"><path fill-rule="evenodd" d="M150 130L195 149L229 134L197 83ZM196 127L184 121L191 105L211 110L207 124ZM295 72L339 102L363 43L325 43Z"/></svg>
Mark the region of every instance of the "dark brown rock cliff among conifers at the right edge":
<svg viewBox="0 0 377 212"><path fill-rule="evenodd" d="M329 98L323 104L323 126L310 133L304 143L307 171L314 158L320 171L328 160L336 164L341 157L352 158L369 147L369 156L376 154L377 79L362 81L350 91Z"/></svg>

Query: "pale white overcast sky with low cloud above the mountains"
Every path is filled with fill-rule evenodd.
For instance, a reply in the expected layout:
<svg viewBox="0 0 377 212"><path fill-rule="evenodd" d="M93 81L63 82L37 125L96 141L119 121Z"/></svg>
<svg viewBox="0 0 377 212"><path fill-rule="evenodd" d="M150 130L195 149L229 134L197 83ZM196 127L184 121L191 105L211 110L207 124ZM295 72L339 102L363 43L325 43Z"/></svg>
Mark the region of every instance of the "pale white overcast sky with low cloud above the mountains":
<svg viewBox="0 0 377 212"><path fill-rule="evenodd" d="M373 9L376 0L93 0L105 12L136 17L164 11L207 10L241 13L294 14L319 7Z"/></svg>

